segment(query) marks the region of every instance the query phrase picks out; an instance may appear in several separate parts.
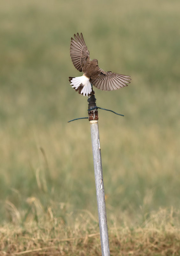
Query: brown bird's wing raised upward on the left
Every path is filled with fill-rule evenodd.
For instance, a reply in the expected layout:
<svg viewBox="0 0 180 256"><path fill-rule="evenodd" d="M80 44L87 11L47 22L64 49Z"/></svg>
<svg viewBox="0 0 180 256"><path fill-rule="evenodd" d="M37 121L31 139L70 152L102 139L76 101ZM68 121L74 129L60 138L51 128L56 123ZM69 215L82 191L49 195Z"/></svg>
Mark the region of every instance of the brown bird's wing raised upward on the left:
<svg viewBox="0 0 180 256"><path fill-rule="evenodd" d="M74 38L71 37L70 56L75 68L81 72L84 63L90 59L90 53L84 42L82 33L80 36L79 33L77 33L77 36L74 34Z"/></svg>

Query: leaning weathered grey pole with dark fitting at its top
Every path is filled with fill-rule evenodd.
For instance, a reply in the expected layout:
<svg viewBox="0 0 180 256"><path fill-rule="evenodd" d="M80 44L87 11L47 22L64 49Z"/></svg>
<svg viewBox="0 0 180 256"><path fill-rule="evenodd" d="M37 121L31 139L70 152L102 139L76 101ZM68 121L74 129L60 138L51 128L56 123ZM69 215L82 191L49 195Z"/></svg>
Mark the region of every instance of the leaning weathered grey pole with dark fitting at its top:
<svg viewBox="0 0 180 256"><path fill-rule="evenodd" d="M94 174L96 183L96 195L97 195L97 210L99 216L99 230L101 237L101 251L102 256L110 256L109 250L109 237L107 228L106 217L106 205L104 196L104 182L103 182L103 169L101 162L101 148L99 141L99 129L98 129L98 112L96 108L96 98L91 95L88 98L88 114L90 121L91 141L92 141L92 153L94 161ZM92 109L92 110L91 110Z"/></svg>

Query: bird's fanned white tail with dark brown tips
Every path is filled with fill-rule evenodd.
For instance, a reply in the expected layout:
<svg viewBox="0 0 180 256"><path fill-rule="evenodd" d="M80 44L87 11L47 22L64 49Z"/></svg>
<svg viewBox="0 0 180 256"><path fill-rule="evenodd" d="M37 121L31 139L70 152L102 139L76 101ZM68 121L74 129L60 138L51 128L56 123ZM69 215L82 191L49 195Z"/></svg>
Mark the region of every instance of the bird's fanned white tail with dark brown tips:
<svg viewBox="0 0 180 256"><path fill-rule="evenodd" d="M94 91L92 90L90 79L83 75L83 76L77 76L77 77L69 77L69 82L72 88L79 94L82 94L83 96L90 96L91 94L94 94Z"/></svg>

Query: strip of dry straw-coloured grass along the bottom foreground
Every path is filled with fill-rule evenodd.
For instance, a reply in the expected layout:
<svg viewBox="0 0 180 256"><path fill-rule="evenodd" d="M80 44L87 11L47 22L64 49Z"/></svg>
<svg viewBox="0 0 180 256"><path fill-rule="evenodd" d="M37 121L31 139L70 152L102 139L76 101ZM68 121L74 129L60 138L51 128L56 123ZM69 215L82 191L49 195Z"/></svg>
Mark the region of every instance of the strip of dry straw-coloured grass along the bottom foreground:
<svg viewBox="0 0 180 256"><path fill-rule="evenodd" d="M72 215L68 219L73 220ZM175 225L178 215L173 209L170 212L162 209L151 213L141 227L119 227L114 221L109 228L111 255L178 256L180 229ZM79 212L73 225L67 228L61 218L47 213L46 221L38 224L35 221L27 221L23 227L6 224L0 228L0 255L101 255L95 219L90 212Z"/></svg>

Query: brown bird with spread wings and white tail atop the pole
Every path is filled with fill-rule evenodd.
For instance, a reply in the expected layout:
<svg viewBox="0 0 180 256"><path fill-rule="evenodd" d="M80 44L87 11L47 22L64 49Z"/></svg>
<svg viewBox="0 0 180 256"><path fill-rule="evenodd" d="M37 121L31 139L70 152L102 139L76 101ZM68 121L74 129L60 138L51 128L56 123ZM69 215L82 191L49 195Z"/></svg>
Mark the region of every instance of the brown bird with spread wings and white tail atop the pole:
<svg viewBox="0 0 180 256"><path fill-rule="evenodd" d="M130 83L130 76L104 71L99 68L97 59L90 59L90 52L84 42L82 33L71 37L70 56L77 70L83 72L83 76L71 77L69 82L75 91L83 96L91 96L95 92L92 85L103 91L117 90Z"/></svg>

